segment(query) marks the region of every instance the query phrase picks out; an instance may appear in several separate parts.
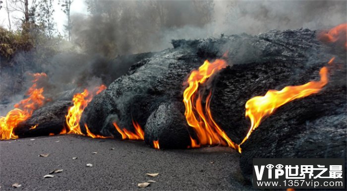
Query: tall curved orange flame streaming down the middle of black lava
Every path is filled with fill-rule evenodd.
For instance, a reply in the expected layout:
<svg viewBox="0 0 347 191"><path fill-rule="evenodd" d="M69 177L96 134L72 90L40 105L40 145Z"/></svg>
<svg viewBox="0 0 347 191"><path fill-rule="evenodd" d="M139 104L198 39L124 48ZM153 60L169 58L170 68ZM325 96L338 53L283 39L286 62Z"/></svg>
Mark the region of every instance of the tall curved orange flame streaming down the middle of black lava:
<svg viewBox="0 0 347 191"><path fill-rule="evenodd" d="M183 102L185 105L185 118L190 127L193 127L198 141L191 139L192 148L201 145L228 145L236 149L237 145L231 141L228 135L213 120L210 111L210 101L212 92L206 98L205 107L202 106L203 92L198 91L199 84L204 84L208 78L221 69L227 67L225 60L217 59L213 63L205 61L198 70L193 70L188 79L188 87L183 92ZM199 143L197 143L199 142Z"/></svg>

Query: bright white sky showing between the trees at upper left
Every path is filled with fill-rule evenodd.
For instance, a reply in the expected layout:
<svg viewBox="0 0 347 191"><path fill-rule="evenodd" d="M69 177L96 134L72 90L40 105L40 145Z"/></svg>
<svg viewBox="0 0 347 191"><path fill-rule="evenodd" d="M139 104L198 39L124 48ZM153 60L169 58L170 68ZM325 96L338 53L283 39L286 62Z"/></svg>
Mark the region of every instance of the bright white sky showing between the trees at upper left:
<svg viewBox="0 0 347 191"><path fill-rule="evenodd" d="M6 0L2 0L3 3L2 8L0 9L0 25L8 28L8 18L7 18L7 12L6 12ZM8 0L8 4L10 6L10 1ZM30 3L32 2L32 0L29 0L29 7L30 7ZM57 29L59 31L59 33L61 35L64 34L64 24L67 23L67 17L66 15L62 12L62 10L60 9L60 5L58 5L58 0L54 0L54 8L55 8L55 12L54 12L54 18L55 18L55 22L57 24ZM85 4L84 0L73 0L72 4L71 4L71 15L75 14L75 13L80 13L80 14L87 14L87 5ZM11 21L15 20L14 18L21 18L23 17L23 13L19 12L19 11L14 11L10 13L10 17ZM57 19L59 18L59 19ZM12 28L13 28L14 24L12 23Z"/></svg>

